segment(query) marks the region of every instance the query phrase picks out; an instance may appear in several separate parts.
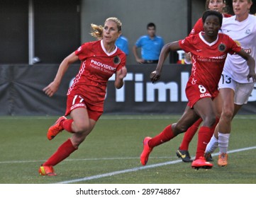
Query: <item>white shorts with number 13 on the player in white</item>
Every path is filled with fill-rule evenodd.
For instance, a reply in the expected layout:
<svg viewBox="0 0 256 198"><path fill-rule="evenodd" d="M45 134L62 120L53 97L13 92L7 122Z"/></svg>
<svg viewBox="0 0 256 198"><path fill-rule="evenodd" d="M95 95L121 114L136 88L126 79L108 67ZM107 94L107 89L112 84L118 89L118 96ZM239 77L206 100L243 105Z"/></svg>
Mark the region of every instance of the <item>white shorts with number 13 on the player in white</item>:
<svg viewBox="0 0 256 198"><path fill-rule="evenodd" d="M228 75L221 74L221 79L218 82L218 89L232 88L235 92L235 105L244 105L247 103L250 94L255 86L255 83L238 83Z"/></svg>

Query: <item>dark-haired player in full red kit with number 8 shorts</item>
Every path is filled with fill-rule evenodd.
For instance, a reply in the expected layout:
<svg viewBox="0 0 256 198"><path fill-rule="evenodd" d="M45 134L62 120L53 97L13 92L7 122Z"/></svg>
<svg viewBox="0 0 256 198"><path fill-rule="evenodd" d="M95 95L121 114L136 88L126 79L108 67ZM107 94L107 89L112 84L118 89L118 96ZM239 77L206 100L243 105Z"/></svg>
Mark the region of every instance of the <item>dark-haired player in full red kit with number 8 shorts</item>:
<svg viewBox="0 0 256 198"><path fill-rule="evenodd" d="M148 157L155 146L173 139L186 132L201 117L203 124L199 129L196 158L192 168L211 168L213 164L206 162L204 151L211 139L216 122L213 99L218 95L218 81L227 54L238 54L249 66L247 78L255 78L255 60L239 47L228 35L218 33L222 24L222 14L217 11L205 11L202 20L204 32L191 35L184 40L170 42L162 48L160 59L150 78L152 83L160 79L163 63L170 51L184 50L191 53L191 76L187 82L186 95L189 103L184 114L177 123L169 124L160 134L143 140L143 152L140 163L146 165Z"/></svg>

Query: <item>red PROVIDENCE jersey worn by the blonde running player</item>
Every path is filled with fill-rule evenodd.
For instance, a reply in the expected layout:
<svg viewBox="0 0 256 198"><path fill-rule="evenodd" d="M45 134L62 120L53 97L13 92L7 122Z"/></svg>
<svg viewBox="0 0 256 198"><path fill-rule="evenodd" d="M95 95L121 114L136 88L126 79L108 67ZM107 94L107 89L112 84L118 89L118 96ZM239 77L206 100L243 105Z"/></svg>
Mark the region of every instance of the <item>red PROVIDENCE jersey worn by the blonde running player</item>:
<svg viewBox="0 0 256 198"><path fill-rule="evenodd" d="M102 40L84 43L75 54L82 63L67 95L82 95L91 110L102 111L108 78L126 65L126 54L118 47L109 54Z"/></svg>

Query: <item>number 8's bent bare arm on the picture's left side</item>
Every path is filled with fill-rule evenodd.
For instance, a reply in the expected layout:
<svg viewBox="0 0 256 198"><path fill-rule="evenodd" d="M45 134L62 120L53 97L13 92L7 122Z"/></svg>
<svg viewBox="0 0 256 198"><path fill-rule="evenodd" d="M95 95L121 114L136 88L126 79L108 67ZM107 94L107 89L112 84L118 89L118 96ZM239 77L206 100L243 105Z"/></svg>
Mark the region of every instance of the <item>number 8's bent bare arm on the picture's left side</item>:
<svg viewBox="0 0 256 198"><path fill-rule="evenodd" d="M177 51L177 50L181 50L181 48L179 47L179 41L169 42L164 47L162 47L157 68L155 69L155 71L152 71L150 74L152 83L160 79L162 66L165 62L165 59L168 57L169 52Z"/></svg>

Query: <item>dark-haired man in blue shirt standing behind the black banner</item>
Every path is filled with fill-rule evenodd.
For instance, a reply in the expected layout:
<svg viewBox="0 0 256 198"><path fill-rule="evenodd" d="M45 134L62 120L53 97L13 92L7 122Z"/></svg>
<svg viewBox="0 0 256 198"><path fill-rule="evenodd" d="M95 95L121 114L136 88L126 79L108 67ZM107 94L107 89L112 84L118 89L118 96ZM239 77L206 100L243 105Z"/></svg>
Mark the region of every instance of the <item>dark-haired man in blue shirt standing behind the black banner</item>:
<svg viewBox="0 0 256 198"><path fill-rule="evenodd" d="M155 35L156 27L154 23L148 23L147 30L148 35L139 37L133 46L136 62L140 64L157 63L162 47L165 45L162 37ZM138 48L141 48L141 58L138 56Z"/></svg>

